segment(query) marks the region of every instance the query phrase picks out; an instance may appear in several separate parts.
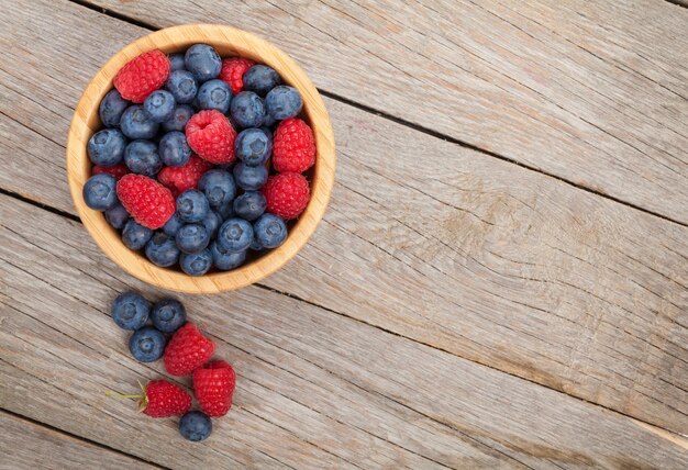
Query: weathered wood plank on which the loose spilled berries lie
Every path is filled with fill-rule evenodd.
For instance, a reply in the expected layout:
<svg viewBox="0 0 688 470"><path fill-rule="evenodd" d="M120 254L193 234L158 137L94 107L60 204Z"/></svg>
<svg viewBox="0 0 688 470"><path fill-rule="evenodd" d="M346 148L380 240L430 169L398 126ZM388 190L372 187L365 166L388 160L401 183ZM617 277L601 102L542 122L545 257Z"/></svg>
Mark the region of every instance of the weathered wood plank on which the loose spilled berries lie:
<svg viewBox="0 0 688 470"><path fill-rule="evenodd" d="M159 293L100 256L79 224L4 195L0 224L0 405L147 460L181 468L225 468L229 459L297 468L688 463L679 436L256 287L181 296L238 373L233 411L206 444L187 445L174 421L135 416L130 403L102 394L162 369L129 356L108 303L124 289Z"/></svg>

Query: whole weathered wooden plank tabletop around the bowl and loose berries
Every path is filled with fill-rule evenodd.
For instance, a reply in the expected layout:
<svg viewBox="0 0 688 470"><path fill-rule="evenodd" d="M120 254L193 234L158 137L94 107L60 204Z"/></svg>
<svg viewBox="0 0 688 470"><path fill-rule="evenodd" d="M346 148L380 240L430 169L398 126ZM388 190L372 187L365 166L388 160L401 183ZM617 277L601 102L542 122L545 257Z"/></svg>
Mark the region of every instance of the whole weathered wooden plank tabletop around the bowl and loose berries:
<svg viewBox="0 0 688 470"><path fill-rule="evenodd" d="M0 468L687 468L676 3L0 0ZM339 150L293 261L179 296L238 376L202 444L106 398L164 373L110 302L165 292L97 248L65 176L90 77L192 22L292 55Z"/></svg>

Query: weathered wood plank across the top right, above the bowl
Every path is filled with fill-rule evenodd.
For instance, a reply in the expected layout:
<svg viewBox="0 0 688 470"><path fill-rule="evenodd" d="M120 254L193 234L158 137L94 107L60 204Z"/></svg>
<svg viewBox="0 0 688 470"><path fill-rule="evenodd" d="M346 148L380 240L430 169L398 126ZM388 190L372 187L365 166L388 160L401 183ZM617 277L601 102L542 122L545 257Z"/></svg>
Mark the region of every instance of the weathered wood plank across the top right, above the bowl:
<svg viewBox="0 0 688 470"><path fill-rule="evenodd" d="M688 222L686 9L658 0L89 1L155 26L254 31L322 89Z"/></svg>

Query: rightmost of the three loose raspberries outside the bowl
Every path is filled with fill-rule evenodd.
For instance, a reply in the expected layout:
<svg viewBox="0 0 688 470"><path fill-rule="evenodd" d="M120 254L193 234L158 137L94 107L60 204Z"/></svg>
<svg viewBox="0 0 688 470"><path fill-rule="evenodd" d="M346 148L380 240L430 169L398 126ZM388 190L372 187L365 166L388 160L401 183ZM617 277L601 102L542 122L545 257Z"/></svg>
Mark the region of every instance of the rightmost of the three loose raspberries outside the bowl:
<svg viewBox="0 0 688 470"><path fill-rule="evenodd" d="M193 371L193 391L201 411L211 417L224 416L232 407L236 374L223 360L213 360Z"/></svg>

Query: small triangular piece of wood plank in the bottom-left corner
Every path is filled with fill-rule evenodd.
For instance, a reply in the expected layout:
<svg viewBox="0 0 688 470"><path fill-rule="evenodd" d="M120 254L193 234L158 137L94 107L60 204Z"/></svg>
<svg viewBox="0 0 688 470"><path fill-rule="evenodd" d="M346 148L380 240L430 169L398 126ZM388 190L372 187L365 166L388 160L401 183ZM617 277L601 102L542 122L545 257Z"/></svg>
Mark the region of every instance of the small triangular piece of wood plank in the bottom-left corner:
<svg viewBox="0 0 688 470"><path fill-rule="evenodd" d="M0 411L0 468L5 470L156 468L3 411Z"/></svg>

